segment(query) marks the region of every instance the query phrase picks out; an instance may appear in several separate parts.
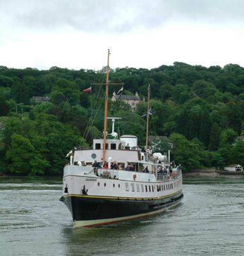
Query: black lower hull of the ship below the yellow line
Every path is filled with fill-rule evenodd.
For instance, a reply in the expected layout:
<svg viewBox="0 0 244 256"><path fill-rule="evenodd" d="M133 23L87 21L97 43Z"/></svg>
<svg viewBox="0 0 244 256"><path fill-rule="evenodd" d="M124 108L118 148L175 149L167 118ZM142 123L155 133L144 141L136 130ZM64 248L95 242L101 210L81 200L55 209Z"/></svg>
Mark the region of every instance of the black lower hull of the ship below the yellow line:
<svg viewBox="0 0 244 256"><path fill-rule="evenodd" d="M102 196L67 195L63 201L72 213L73 221L91 221L116 219L127 216L144 216L157 213L165 207L176 204L183 198L179 191L175 195L164 198L150 198L149 200L103 198ZM112 222L112 221L111 221Z"/></svg>

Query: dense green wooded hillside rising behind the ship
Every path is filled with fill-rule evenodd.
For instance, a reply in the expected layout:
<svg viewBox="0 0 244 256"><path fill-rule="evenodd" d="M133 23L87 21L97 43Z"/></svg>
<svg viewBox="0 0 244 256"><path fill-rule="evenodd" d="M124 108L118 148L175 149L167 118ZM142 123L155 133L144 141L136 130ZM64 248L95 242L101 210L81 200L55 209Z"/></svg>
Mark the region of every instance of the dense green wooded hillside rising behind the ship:
<svg viewBox="0 0 244 256"><path fill-rule="evenodd" d="M52 67L0 67L0 173L59 175L73 147L89 147L103 130L105 68L68 70ZM116 68L111 83L124 83L124 94L147 100L151 84L150 134L167 136L172 157L183 170L226 164L244 165L244 68L191 66L176 62L151 70ZM121 86L112 86L117 92ZM36 96L48 96L38 103ZM109 115L121 117L121 134L139 136L144 145L146 102L132 113L124 102L110 102ZM110 128L110 127L109 127Z"/></svg>

